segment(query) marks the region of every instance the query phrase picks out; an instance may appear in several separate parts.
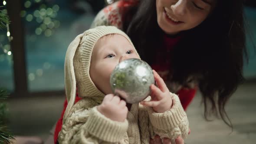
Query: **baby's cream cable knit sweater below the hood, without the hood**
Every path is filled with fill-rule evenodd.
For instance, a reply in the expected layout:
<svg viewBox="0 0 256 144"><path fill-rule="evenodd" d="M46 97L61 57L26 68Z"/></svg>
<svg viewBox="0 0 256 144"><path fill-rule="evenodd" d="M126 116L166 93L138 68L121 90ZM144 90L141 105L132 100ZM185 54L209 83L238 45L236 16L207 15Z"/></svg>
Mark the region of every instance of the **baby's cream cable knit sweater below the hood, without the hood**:
<svg viewBox="0 0 256 144"><path fill-rule="evenodd" d="M171 94L174 105L156 113L152 108L133 104L127 121L117 122L97 111L98 101L83 98L73 105L59 133L60 144L149 144L156 134L174 140L188 135L188 120L179 98ZM149 101L149 96L146 101ZM174 143L175 144L175 143Z"/></svg>

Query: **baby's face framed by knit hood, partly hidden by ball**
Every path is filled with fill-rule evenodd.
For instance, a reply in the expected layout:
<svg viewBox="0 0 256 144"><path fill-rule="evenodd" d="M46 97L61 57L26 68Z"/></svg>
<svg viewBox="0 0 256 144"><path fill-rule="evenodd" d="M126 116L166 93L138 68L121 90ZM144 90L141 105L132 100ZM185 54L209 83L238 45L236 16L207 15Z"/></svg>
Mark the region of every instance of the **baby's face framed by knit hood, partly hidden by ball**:
<svg viewBox="0 0 256 144"><path fill-rule="evenodd" d="M92 51L90 77L96 87L105 95L112 93L110 75L119 62L125 59L140 59L135 48L121 35L103 36Z"/></svg>

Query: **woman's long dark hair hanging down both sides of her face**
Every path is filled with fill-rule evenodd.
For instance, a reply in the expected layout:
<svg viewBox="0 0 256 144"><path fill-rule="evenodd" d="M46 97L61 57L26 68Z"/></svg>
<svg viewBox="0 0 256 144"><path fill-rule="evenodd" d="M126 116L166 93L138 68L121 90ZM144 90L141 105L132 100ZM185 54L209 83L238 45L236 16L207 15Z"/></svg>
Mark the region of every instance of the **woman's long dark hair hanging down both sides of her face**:
<svg viewBox="0 0 256 144"><path fill-rule="evenodd" d="M124 31L149 64L163 47L164 32L157 23L155 4L155 0L141 0L138 7L130 9L124 23ZM217 3L206 20L181 33L181 41L169 56L173 72L170 80L185 86L189 76L198 76L205 118L219 114L232 127L224 106L244 79L243 54L247 58L247 52L243 0Z"/></svg>

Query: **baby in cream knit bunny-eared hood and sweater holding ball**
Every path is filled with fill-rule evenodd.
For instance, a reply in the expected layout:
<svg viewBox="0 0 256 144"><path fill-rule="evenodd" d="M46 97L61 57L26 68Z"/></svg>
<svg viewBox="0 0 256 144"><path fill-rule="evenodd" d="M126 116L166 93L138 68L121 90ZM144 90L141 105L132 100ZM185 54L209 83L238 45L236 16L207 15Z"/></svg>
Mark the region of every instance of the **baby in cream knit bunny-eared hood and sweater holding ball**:
<svg viewBox="0 0 256 144"><path fill-rule="evenodd" d="M188 120L177 95L154 71L151 96L128 104L112 94L110 75L119 62L140 59L131 40L114 26L98 26L77 36L66 52L68 106L60 144L149 144L159 135L171 142L188 134ZM76 88L82 99L74 104Z"/></svg>

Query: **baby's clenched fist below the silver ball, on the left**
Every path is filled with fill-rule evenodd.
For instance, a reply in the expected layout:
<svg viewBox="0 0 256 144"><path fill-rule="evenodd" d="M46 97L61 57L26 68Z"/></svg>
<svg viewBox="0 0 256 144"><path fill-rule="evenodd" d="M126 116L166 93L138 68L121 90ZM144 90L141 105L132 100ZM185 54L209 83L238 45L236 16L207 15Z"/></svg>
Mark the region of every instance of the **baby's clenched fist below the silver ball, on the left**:
<svg viewBox="0 0 256 144"><path fill-rule="evenodd" d="M128 113L126 102L113 94L105 95L102 104L97 109L105 117L119 122L125 121Z"/></svg>

